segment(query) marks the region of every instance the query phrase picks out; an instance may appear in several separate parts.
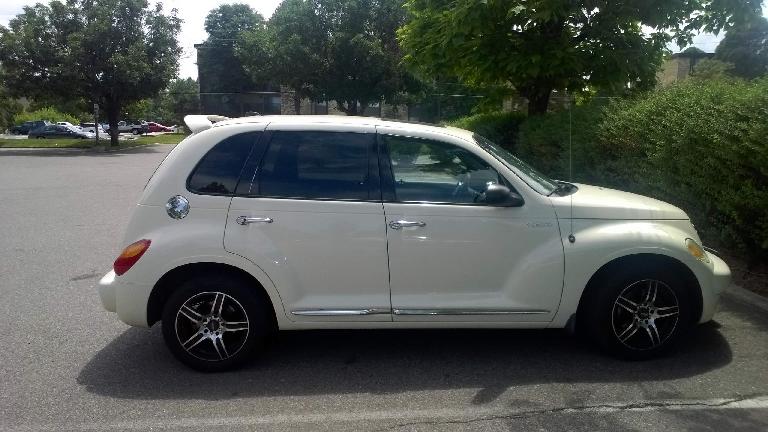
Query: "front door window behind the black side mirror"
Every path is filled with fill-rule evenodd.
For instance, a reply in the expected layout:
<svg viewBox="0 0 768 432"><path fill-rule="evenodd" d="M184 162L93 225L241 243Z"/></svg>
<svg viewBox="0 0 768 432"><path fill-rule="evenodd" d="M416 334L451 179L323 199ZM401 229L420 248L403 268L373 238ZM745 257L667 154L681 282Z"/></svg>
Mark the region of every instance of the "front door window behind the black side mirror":
<svg viewBox="0 0 768 432"><path fill-rule="evenodd" d="M396 201L482 205L488 185L509 186L487 162L459 146L392 135L382 140Z"/></svg>

